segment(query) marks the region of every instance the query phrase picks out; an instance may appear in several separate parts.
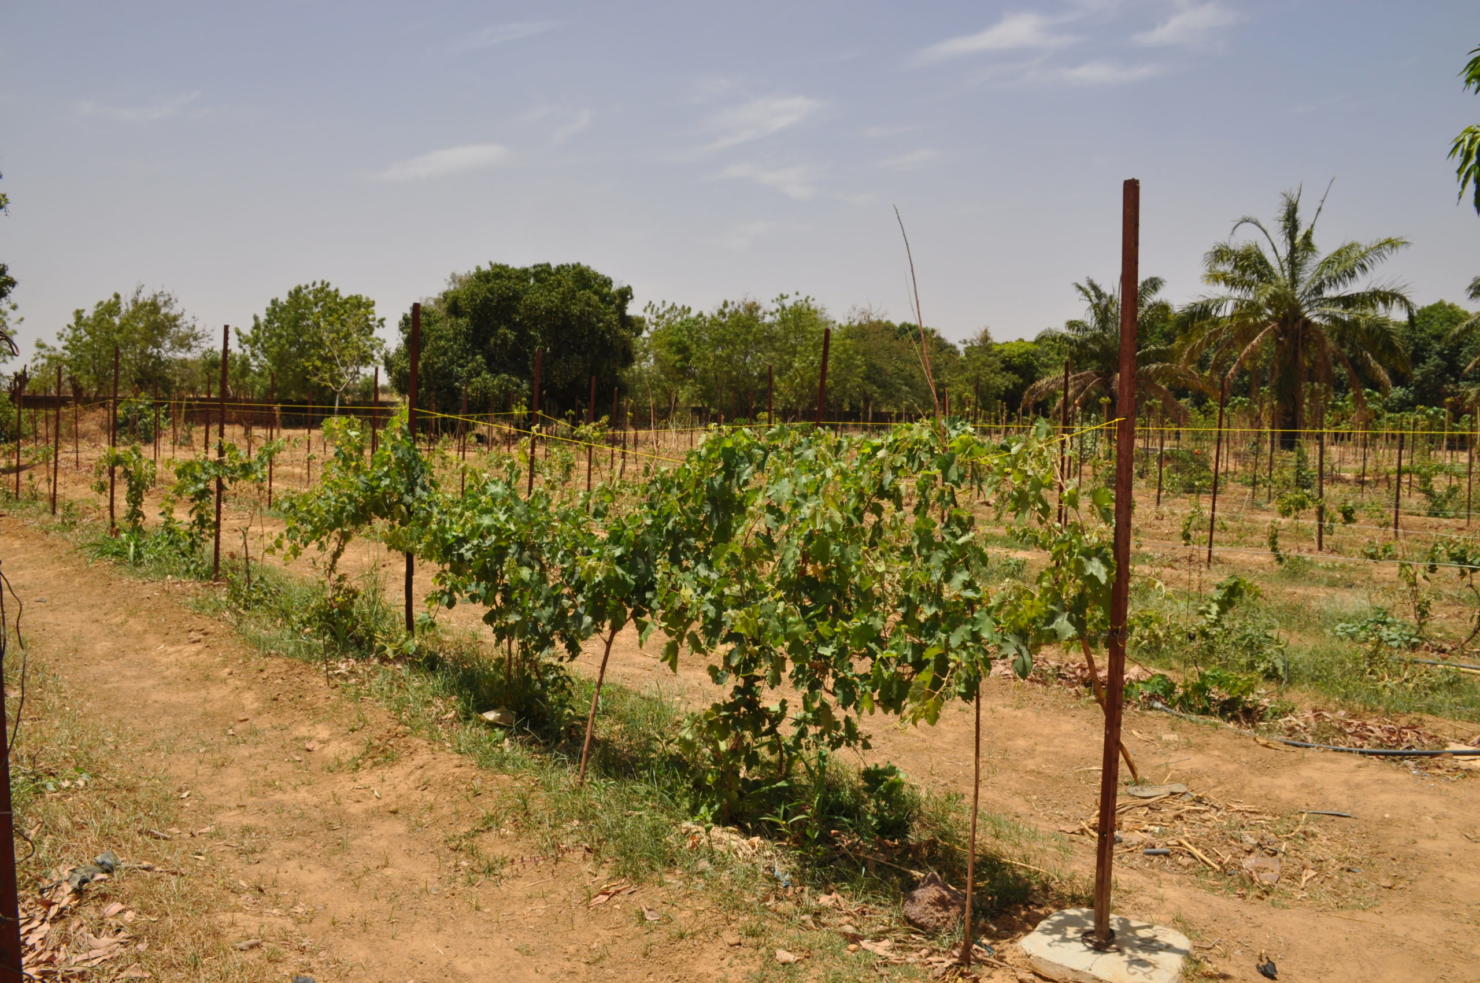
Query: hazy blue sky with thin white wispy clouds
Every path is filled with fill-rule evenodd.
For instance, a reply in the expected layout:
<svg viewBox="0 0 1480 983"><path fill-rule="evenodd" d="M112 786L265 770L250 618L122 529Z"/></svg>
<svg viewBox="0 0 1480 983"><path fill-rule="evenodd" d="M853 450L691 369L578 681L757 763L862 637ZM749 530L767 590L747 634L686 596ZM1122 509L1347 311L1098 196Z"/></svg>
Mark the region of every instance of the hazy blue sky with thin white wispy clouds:
<svg viewBox="0 0 1480 983"><path fill-rule="evenodd" d="M1320 243L1461 301L1450 138L1474 0L65 3L0 13L0 259L24 349L135 284L250 324L327 278L389 321L485 262L586 262L638 306L815 296L1023 338L1335 179Z"/></svg>

